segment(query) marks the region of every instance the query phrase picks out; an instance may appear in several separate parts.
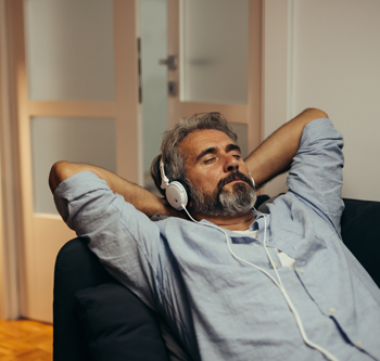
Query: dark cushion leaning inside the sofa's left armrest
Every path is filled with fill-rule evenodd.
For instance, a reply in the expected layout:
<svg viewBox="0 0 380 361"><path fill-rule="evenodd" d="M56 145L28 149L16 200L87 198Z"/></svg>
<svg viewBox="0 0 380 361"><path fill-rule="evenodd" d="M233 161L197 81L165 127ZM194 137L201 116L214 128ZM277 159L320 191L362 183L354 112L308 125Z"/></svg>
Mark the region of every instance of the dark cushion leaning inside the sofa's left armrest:
<svg viewBox="0 0 380 361"><path fill-rule="evenodd" d="M168 360L154 312L121 283L75 296L91 360Z"/></svg>

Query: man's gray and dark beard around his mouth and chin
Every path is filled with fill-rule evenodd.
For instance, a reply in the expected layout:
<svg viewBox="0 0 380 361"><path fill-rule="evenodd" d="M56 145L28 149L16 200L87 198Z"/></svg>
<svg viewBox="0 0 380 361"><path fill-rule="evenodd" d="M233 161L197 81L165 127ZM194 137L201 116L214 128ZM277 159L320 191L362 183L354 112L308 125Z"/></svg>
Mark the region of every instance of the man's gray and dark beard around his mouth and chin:
<svg viewBox="0 0 380 361"><path fill-rule="evenodd" d="M216 194L201 193L190 181L188 185L193 209L201 215L226 217L243 214L253 208L257 198L251 182L235 183L231 192L225 190L225 184L219 182Z"/></svg>

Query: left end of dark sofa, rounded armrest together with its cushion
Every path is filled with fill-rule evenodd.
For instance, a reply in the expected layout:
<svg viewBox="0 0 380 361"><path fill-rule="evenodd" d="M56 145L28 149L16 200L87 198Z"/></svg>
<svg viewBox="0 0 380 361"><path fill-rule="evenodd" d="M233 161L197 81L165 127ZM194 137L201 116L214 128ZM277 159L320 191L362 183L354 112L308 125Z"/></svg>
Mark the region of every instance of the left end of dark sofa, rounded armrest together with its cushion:
<svg viewBox="0 0 380 361"><path fill-rule="evenodd" d="M53 359L168 361L154 311L114 280L85 238L55 261Z"/></svg>

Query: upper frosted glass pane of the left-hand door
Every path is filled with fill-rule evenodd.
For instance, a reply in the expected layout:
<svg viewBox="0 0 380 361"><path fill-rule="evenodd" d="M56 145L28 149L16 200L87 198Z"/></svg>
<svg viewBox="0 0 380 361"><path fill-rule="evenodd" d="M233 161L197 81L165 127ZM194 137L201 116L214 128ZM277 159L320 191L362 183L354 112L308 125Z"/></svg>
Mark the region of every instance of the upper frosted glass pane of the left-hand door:
<svg viewBox="0 0 380 361"><path fill-rule="evenodd" d="M115 99L112 0L25 0L30 100Z"/></svg>

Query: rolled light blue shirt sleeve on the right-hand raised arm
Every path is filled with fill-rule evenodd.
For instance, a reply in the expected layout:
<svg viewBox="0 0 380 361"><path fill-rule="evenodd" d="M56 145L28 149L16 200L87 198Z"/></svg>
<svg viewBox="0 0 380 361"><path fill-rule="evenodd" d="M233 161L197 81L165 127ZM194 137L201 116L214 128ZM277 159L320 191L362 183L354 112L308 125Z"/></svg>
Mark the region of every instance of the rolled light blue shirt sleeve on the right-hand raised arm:
<svg viewBox="0 0 380 361"><path fill-rule="evenodd" d="M344 165L343 137L330 119L311 121L303 130L287 185L340 234Z"/></svg>

